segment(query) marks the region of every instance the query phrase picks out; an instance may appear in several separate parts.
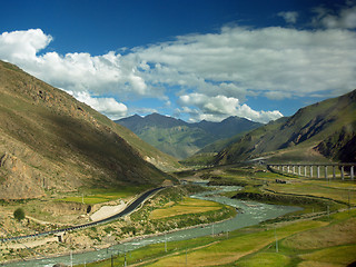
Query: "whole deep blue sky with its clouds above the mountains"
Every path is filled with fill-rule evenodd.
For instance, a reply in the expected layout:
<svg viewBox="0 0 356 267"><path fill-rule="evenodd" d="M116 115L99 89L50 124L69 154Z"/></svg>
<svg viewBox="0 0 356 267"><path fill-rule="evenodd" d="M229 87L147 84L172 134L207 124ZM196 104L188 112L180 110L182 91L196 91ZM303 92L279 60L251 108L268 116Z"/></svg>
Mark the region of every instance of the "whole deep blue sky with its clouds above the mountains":
<svg viewBox="0 0 356 267"><path fill-rule="evenodd" d="M2 1L0 59L112 119L268 122L356 88L354 0Z"/></svg>

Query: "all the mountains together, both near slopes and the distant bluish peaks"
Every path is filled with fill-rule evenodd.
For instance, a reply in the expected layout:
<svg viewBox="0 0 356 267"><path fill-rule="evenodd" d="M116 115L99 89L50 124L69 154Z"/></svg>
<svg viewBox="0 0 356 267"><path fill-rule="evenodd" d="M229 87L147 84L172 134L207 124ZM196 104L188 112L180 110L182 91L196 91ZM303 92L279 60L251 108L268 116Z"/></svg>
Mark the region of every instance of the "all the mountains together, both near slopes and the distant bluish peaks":
<svg viewBox="0 0 356 267"><path fill-rule="evenodd" d="M159 149L179 158L216 152L202 157L209 165L256 158L356 162L356 90L267 125L238 117L188 123L158 113L117 123L0 61L0 199L38 198L82 187L157 186L175 179L164 171L181 168Z"/></svg>

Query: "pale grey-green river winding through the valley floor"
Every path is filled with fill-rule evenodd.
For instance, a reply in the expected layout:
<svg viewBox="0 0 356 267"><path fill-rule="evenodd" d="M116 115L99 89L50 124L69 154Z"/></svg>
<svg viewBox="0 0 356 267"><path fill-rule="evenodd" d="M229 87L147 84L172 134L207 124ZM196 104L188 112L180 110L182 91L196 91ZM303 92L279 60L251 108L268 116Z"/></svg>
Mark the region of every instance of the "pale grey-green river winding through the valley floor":
<svg viewBox="0 0 356 267"><path fill-rule="evenodd" d="M55 264L62 263L68 266L91 263L100 259L106 259L111 257L112 255L122 254L125 251L135 250L137 248L167 241L176 241L176 240L185 240L195 237L201 237L207 235L216 235L219 233L226 233L236 230L246 226L257 225L264 220L273 219L279 216L283 216L288 212L293 212L299 210L298 207L290 207L290 206L277 206L277 205L267 205L260 204L256 201L245 201L238 199L230 199L227 197L219 196L217 194L224 191L233 191L238 190L239 187L233 186L224 186L224 187L215 187L216 190L201 192L191 196L192 198L199 198L205 200L214 200L217 202L226 204L233 206L239 210L239 212L231 219L225 220L221 222L216 222L210 226L206 227L197 227L184 230L177 230L174 233L168 233L161 236L155 237L147 237L142 239L134 239L129 243L118 244L108 249L100 249L96 251L89 251L85 254L76 254L76 255L68 255L61 256L57 258L48 258L48 259L38 259L38 260L29 260L29 261L21 261L21 263L12 263L6 264L7 267L16 267L16 266L26 266L26 267L38 267L38 266L46 266L52 267Z"/></svg>

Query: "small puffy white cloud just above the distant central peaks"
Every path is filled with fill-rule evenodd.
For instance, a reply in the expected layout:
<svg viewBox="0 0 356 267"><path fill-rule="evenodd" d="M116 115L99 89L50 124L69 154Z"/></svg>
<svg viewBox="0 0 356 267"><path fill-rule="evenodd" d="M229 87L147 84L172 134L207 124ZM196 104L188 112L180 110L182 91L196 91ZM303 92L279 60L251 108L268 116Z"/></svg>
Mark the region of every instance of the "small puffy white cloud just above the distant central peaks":
<svg viewBox="0 0 356 267"><path fill-rule="evenodd" d="M179 102L182 107L177 112L189 113L191 121L211 120L220 121L229 116L238 116L258 122L276 120L283 115L277 111L256 111L246 103L240 105L236 98L225 96L208 97L202 93L190 93L180 96Z"/></svg>

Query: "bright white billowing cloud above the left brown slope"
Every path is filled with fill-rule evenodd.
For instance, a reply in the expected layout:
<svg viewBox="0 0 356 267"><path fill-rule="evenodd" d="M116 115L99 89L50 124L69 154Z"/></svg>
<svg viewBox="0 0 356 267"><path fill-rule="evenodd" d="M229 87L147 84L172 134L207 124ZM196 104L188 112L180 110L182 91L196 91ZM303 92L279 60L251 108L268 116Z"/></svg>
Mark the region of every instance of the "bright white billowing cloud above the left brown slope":
<svg viewBox="0 0 356 267"><path fill-rule="evenodd" d="M52 37L40 29L4 32L0 36L0 58L67 90L149 95L136 62L113 51L97 57L83 52L38 55L51 41Z"/></svg>

